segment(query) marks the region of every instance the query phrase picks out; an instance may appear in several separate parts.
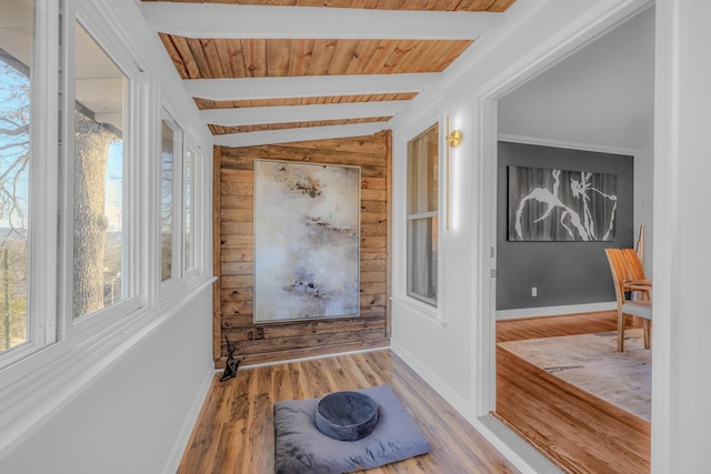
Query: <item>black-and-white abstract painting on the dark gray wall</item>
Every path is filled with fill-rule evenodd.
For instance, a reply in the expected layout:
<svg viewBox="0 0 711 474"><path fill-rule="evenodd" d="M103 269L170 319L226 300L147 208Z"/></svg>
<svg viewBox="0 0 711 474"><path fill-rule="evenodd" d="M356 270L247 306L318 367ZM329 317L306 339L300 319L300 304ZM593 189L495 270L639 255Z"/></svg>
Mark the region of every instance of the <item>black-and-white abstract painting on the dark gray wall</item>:
<svg viewBox="0 0 711 474"><path fill-rule="evenodd" d="M509 167L510 241L614 241L617 175Z"/></svg>

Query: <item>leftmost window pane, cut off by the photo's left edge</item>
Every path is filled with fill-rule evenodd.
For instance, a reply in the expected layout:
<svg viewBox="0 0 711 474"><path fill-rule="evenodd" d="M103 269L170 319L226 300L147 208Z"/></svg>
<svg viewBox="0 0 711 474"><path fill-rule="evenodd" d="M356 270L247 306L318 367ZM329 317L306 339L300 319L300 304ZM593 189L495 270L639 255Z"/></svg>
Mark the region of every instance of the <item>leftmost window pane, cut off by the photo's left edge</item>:
<svg viewBox="0 0 711 474"><path fill-rule="evenodd" d="M29 340L32 27L32 1L0 2L0 353Z"/></svg>

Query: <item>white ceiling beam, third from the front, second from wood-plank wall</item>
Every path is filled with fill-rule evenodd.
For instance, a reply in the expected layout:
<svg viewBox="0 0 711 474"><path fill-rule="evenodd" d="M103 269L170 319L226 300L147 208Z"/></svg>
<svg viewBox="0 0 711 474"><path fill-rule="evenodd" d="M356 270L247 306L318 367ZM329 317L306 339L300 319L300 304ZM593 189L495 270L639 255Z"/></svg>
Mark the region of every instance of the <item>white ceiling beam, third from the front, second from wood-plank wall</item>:
<svg viewBox="0 0 711 474"><path fill-rule="evenodd" d="M364 119L392 117L410 107L410 101L378 101L329 103L314 105L244 107L239 109L209 109L200 111L206 123L222 127L268 124L283 122L312 122L321 120Z"/></svg>

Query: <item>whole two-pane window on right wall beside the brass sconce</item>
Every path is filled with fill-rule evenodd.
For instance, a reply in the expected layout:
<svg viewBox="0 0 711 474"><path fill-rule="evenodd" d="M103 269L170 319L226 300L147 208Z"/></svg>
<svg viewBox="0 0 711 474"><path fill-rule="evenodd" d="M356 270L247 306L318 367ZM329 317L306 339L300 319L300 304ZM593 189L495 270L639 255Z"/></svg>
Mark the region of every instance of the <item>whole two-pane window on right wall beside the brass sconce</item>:
<svg viewBox="0 0 711 474"><path fill-rule="evenodd" d="M408 295L437 306L439 127L408 143Z"/></svg>

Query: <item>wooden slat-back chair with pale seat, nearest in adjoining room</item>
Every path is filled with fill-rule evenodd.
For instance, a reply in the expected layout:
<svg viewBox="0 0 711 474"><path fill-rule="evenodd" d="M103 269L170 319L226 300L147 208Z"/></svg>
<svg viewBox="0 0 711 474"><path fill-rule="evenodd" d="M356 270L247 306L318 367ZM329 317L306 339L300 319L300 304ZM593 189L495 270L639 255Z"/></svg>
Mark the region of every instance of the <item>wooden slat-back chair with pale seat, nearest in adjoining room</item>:
<svg viewBox="0 0 711 474"><path fill-rule="evenodd" d="M650 347L650 321L652 320L652 302L651 300L630 301L625 299L625 292L651 291L651 284L644 285L641 283L629 283L630 271L628 269L624 255L621 249L605 249L608 255L608 262L610 263L610 271L612 272L612 282L614 283L614 295L618 300L618 351L624 351L624 315L630 314L632 316L642 317L643 331L644 331L644 349ZM624 282L628 281L628 286ZM631 286L629 286L631 285Z"/></svg>

